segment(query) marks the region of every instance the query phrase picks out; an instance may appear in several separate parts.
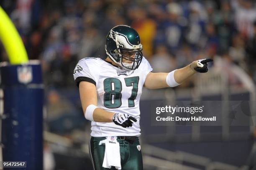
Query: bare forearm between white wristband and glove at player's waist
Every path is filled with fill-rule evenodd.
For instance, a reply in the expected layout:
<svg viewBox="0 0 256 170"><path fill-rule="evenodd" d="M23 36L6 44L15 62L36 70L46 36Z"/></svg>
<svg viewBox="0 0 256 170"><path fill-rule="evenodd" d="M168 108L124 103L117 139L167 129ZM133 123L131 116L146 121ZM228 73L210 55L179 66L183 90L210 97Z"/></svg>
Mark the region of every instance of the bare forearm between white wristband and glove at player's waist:
<svg viewBox="0 0 256 170"><path fill-rule="evenodd" d="M93 120L95 122L113 122L114 112L108 112L101 108L96 108L93 112Z"/></svg>

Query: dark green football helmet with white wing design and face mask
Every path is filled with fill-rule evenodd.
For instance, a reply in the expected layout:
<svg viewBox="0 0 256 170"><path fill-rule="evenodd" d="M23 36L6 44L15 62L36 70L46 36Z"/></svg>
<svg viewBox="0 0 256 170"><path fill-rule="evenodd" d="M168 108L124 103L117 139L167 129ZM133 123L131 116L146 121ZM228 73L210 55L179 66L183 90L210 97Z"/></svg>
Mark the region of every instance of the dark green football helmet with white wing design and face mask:
<svg viewBox="0 0 256 170"><path fill-rule="evenodd" d="M109 58L123 69L135 70L142 61L141 39L137 31L127 25L112 28L105 50Z"/></svg>

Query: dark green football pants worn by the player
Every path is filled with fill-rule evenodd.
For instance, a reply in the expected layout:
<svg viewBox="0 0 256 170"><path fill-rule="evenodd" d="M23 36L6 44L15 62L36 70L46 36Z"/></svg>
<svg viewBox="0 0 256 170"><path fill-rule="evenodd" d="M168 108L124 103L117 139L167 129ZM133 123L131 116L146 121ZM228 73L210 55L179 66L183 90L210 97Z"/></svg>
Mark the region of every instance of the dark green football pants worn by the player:
<svg viewBox="0 0 256 170"><path fill-rule="evenodd" d="M105 154L105 144L99 145L105 137L91 137L89 151L94 170L116 170L115 167L102 167ZM120 145L120 157L122 170L143 170L141 147L138 137L135 141L117 139ZM115 155L113 155L115 158Z"/></svg>

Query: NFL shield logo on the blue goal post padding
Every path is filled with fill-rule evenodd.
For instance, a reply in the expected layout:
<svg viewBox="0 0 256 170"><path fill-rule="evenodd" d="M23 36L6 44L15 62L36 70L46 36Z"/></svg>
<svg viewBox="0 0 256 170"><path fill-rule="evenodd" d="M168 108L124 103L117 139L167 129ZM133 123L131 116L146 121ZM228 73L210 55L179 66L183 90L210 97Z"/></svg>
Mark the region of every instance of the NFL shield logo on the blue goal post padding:
<svg viewBox="0 0 256 170"><path fill-rule="evenodd" d="M17 67L18 81L23 84L27 84L32 81L32 67L20 66Z"/></svg>

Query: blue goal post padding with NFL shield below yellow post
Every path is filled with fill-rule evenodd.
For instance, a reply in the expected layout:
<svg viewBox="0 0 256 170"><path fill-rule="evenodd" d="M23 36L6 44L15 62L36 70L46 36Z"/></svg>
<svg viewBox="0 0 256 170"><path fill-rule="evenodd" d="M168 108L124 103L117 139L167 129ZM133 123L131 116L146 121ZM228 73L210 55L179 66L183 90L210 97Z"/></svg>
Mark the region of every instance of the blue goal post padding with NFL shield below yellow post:
<svg viewBox="0 0 256 170"><path fill-rule="evenodd" d="M3 161L26 161L26 170L43 169L44 86L39 61L0 63L3 89Z"/></svg>

